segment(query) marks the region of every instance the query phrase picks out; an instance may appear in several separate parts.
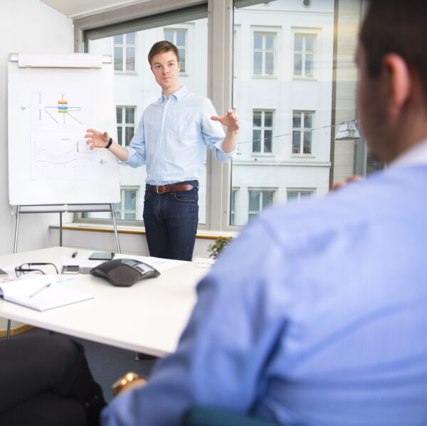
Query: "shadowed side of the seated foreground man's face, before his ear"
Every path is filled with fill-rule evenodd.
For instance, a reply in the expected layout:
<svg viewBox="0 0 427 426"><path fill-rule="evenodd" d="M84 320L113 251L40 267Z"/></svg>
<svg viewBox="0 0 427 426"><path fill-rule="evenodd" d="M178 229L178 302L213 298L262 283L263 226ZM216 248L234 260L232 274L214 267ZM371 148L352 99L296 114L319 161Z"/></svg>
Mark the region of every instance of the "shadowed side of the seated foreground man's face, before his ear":
<svg viewBox="0 0 427 426"><path fill-rule="evenodd" d="M386 159L389 140L386 125L386 99L381 85L381 75L372 78L368 73L367 58L364 47L359 43L356 62L359 66L359 85L357 87L357 107L364 136L371 151Z"/></svg>

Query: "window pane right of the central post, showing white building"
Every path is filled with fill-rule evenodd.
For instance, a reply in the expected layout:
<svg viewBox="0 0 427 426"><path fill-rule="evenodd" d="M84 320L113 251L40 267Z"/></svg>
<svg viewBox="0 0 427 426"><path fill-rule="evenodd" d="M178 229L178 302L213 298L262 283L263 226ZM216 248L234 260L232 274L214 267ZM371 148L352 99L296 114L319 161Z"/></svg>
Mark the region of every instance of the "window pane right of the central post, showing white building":
<svg viewBox="0 0 427 426"><path fill-rule="evenodd" d="M236 198L233 211L239 214L230 216L231 223L245 225L263 206L285 203L293 196L288 188L310 186L308 193L316 196L330 189L334 3L242 2L235 10L235 49L241 60L234 73L233 107L243 126L231 185L249 196ZM354 102L354 85L340 95ZM276 189L273 196L255 188ZM306 193L298 191L295 197Z"/></svg>

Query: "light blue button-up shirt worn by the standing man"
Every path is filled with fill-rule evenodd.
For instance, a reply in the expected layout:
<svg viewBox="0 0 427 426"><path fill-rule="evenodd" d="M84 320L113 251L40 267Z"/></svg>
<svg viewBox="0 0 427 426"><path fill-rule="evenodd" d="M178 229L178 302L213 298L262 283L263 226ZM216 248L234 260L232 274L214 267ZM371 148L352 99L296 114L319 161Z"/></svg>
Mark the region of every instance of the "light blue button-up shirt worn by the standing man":
<svg viewBox="0 0 427 426"><path fill-rule="evenodd" d="M225 137L220 122L207 97L194 95L182 86L169 99L162 94L143 112L135 130L129 158L123 161L132 167L147 163L147 183L164 185L199 180L206 159L206 146L220 161L229 161L236 149L225 153Z"/></svg>

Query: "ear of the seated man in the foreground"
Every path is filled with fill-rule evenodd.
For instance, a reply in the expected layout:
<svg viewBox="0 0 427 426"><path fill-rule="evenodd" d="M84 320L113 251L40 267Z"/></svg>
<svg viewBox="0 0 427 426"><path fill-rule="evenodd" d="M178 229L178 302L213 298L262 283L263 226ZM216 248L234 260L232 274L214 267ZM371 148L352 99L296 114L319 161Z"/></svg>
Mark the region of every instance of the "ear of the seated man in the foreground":
<svg viewBox="0 0 427 426"><path fill-rule="evenodd" d="M385 55L383 64L389 92L388 109L396 116L411 97L411 73L404 58L396 53Z"/></svg>

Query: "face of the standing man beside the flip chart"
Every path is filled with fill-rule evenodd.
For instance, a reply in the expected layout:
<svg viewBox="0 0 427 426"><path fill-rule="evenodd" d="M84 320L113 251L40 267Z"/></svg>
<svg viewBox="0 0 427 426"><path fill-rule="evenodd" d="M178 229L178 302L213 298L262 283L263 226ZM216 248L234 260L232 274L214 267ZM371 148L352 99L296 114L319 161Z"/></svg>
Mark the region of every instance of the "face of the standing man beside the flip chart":
<svg viewBox="0 0 427 426"><path fill-rule="evenodd" d="M152 72L162 91L173 93L179 89L179 70L181 63L178 62L172 50L155 55L152 59Z"/></svg>

